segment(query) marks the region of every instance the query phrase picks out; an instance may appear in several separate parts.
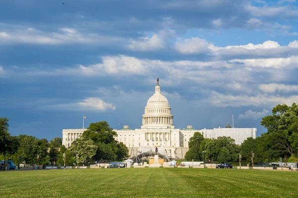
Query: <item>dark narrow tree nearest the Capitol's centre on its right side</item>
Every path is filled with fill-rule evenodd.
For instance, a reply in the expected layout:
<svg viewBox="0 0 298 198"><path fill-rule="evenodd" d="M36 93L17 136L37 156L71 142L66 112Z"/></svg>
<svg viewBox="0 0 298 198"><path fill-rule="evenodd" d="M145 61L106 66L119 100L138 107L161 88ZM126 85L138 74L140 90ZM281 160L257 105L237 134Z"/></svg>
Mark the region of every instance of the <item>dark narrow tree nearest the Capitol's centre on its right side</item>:
<svg viewBox="0 0 298 198"><path fill-rule="evenodd" d="M185 154L185 159L188 161L201 161L203 160L201 143L204 141L204 137L200 132L195 132L193 137L189 139L189 150Z"/></svg>

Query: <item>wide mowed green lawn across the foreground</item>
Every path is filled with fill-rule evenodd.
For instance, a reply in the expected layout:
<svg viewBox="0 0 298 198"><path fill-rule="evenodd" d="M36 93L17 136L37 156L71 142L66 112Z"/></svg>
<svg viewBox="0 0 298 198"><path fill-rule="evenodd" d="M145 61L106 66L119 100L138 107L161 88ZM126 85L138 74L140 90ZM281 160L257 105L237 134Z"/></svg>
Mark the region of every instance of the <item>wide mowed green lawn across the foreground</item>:
<svg viewBox="0 0 298 198"><path fill-rule="evenodd" d="M2 198L297 198L298 171L111 168L0 171Z"/></svg>

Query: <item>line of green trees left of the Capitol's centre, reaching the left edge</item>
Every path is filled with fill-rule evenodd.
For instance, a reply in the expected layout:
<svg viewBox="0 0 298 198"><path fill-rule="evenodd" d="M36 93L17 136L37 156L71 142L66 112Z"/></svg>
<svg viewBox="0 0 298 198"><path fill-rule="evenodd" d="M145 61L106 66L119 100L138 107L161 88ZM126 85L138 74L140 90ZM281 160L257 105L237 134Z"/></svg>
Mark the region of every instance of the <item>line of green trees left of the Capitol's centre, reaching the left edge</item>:
<svg viewBox="0 0 298 198"><path fill-rule="evenodd" d="M0 160L10 158L15 164L73 165L90 164L101 160L122 160L128 157L128 148L115 140L117 133L106 121L91 123L80 139L70 148L62 145L62 138L51 141L34 136L11 136L9 119L0 118Z"/></svg>

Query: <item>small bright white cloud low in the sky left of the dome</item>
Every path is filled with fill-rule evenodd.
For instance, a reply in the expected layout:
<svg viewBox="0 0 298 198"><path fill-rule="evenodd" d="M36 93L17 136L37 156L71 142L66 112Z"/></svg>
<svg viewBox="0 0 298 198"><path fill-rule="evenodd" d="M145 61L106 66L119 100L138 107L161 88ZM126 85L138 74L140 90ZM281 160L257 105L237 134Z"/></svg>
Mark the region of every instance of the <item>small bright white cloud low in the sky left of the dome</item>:
<svg viewBox="0 0 298 198"><path fill-rule="evenodd" d="M74 103L62 103L51 105L51 108L67 109L67 110L90 110L90 111L108 111L115 110L116 106L112 103L103 101L100 98L86 98L82 101Z"/></svg>

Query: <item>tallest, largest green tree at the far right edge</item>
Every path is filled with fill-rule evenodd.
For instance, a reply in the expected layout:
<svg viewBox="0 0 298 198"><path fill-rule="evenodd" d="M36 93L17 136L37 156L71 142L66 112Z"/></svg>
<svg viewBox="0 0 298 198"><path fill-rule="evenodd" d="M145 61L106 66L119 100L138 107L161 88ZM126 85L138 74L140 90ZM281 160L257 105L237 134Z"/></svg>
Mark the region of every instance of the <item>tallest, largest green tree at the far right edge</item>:
<svg viewBox="0 0 298 198"><path fill-rule="evenodd" d="M262 118L261 125L267 128L270 148L286 161L289 157L297 163L298 152L298 105L279 104L272 109L272 115ZM263 136L262 135L262 136Z"/></svg>

